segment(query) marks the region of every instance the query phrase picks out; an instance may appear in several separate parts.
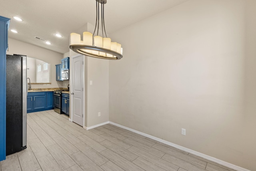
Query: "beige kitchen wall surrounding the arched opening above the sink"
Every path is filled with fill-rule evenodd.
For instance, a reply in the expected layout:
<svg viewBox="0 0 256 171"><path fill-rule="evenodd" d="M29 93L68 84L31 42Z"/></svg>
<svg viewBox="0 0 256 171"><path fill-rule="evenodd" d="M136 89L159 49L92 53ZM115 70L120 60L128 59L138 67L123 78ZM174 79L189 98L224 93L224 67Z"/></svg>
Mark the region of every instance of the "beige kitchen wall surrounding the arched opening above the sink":
<svg viewBox="0 0 256 171"><path fill-rule="evenodd" d="M50 64L50 85L44 84L32 84L32 89L34 88L57 88L57 87L66 87L66 82L56 81L56 64L60 64L60 60L63 57L63 54L58 52L53 52L38 46L20 42L12 38L8 38L9 51L6 53L8 55L20 54L26 55L28 57L36 58L47 62ZM67 84L66 84L67 85Z"/></svg>

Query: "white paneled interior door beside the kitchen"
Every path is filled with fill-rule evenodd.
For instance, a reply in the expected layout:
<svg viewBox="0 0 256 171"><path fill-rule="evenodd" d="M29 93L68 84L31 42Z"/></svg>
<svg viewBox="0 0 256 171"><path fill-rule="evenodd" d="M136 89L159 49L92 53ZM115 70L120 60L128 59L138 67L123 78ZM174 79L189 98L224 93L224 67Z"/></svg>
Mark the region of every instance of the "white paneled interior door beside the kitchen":
<svg viewBox="0 0 256 171"><path fill-rule="evenodd" d="M72 121L83 126L84 123L84 56L72 58Z"/></svg>

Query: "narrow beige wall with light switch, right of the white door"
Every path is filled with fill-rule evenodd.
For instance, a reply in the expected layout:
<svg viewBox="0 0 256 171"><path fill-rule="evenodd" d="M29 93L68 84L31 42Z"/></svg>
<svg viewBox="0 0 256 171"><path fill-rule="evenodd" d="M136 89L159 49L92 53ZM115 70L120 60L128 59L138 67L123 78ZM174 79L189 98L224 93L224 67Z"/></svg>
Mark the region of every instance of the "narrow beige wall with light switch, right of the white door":
<svg viewBox="0 0 256 171"><path fill-rule="evenodd" d="M78 30L77 33L83 35L82 32L93 32L94 27L92 24L85 24ZM82 36L81 36L82 39ZM77 55L77 53L70 50L70 57ZM71 62L71 60L70 60ZM102 60L85 56L84 63L84 126L92 127L108 121L108 107L109 107L109 70L108 60ZM71 65L71 63L70 63ZM92 85L90 85L90 82ZM71 82L70 82L71 84ZM100 112L100 116L98 113Z"/></svg>

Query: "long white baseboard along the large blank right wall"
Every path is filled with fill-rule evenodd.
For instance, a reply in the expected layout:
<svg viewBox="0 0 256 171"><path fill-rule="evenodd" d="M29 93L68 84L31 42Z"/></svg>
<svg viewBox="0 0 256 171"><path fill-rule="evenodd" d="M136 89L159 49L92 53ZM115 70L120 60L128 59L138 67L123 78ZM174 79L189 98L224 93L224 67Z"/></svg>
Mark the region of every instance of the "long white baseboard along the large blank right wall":
<svg viewBox="0 0 256 171"><path fill-rule="evenodd" d="M220 165L224 165L224 166L229 167L229 168L231 168L231 169L235 169L235 170L237 170L237 171L250 171L250 170L244 169L244 168L242 168L242 167L239 167L239 166L237 166L237 165L233 165L233 164L231 164L231 163L228 163L228 162L226 162L226 161L222 161L222 160L220 160L220 159L216 159L216 158L214 158L214 157L211 157L211 156L208 156L208 155L199 153L199 152L194 151L194 150L192 150L192 149L188 149L188 148L186 148L186 147L182 147L182 146L180 146L180 145L177 145L177 144L174 144L174 143L170 143L170 142L165 141L165 140L163 140L163 139L160 139L160 138L157 138L157 137L153 137L152 135L148 135L148 134L146 134L146 133L143 133L143 132L140 132L140 131L136 131L136 130L134 130L134 129L125 127L125 126L123 126L123 125L119 125L119 124L114 123L114 122L111 122L111 121L109 121L109 123L112 124L112 125L116 125L116 126L118 126L118 127L121 127L121 128L123 128L123 129L126 129L126 130L128 130L128 131L132 131L132 132L134 132L134 133L138 133L138 134L143 135L143 136L145 136L145 137L148 137L148 138L150 138L150 139L154 139L154 140L159 141L159 142L161 142L161 143L170 145L170 146L175 147L175 148L177 148L177 149L180 149L180 150L186 151L186 152L188 152L188 153L197 155L197 156L199 156L199 157L203 157L204 159L208 159L208 160L210 160L210 161L213 161L213 162L218 163L218 164L220 164ZM100 126L101 126L101 125L100 125Z"/></svg>

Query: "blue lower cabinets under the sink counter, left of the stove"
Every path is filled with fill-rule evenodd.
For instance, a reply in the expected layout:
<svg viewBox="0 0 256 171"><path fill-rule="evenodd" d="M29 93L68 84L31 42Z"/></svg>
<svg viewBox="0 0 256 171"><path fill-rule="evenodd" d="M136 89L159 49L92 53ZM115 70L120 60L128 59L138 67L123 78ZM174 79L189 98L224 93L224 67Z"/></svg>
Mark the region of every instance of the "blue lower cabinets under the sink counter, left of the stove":
<svg viewBox="0 0 256 171"><path fill-rule="evenodd" d="M53 109L53 92L29 92L27 96L27 113Z"/></svg>

